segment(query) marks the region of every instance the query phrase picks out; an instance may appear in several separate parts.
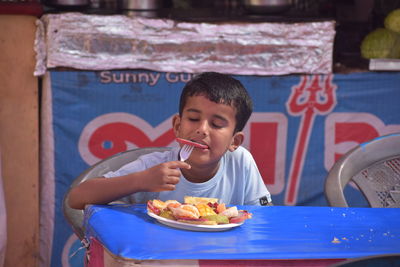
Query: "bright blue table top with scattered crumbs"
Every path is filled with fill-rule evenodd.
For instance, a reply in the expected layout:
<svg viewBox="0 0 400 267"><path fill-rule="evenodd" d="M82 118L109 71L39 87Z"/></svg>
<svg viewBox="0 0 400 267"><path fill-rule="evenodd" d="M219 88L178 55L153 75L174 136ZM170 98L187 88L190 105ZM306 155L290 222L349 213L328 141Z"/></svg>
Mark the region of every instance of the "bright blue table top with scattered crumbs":
<svg viewBox="0 0 400 267"><path fill-rule="evenodd" d="M241 206L253 213L223 232L174 229L145 205L92 205L88 238L118 257L162 259L343 259L400 253L400 209Z"/></svg>

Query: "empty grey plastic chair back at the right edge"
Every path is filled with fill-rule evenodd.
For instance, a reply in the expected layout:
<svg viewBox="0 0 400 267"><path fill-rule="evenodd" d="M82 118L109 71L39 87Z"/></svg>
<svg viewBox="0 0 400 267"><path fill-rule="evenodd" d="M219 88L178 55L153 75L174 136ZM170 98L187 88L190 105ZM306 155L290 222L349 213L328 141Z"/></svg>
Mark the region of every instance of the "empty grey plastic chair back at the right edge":
<svg viewBox="0 0 400 267"><path fill-rule="evenodd" d="M350 181L371 207L400 207L400 133L362 143L333 165L325 180L329 205L348 207L343 191Z"/></svg>

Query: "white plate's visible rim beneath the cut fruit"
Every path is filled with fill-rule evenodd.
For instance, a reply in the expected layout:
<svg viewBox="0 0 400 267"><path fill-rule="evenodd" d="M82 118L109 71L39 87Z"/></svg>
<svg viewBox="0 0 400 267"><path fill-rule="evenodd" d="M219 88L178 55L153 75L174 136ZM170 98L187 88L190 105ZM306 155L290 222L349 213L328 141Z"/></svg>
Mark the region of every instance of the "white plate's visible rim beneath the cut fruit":
<svg viewBox="0 0 400 267"><path fill-rule="evenodd" d="M190 223L183 223L183 222L177 222L174 220L166 219L164 217L158 216L152 212L147 212L147 214L150 217L153 217L156 219L159 223L162 223L164 225L177 228L177 229L183 229L183 230L189 230L189 231L202 231L202 232L217 232L217 231L226 231L234 227L238 227L243 224L241 223L228 223L228 224L218 224L218 225L198 225L198 224L190 224Z"/></svg>

